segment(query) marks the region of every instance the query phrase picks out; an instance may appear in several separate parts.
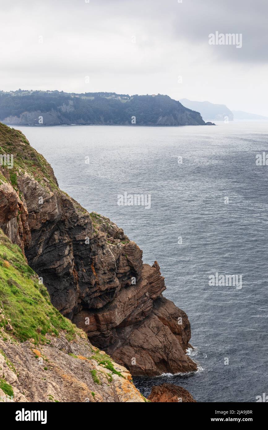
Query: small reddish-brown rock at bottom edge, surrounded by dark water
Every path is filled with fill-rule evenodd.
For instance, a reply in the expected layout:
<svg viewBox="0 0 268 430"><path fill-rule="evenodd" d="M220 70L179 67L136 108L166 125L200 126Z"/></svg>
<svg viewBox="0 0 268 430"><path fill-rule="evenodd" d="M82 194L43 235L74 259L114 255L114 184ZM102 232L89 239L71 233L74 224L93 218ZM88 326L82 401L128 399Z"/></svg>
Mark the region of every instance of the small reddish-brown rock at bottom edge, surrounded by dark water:
<svg viewBox="0 0 268 430"><path fill-rule="evenodd" d="M148 400L157 403L196 402L189 391L174 384L154 385L151 394L148 396Z"/></svg>

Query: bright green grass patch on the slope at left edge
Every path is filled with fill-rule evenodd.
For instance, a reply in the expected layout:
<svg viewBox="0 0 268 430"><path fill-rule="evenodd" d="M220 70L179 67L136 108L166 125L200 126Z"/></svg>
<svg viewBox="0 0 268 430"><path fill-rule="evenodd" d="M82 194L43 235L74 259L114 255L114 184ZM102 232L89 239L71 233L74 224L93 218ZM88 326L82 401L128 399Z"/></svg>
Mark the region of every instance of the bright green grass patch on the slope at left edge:
<svg viewBox="0 0 268 430"><path fill-rule="evenodd" d="M21 249L0 230L0 301L11 319L12 334L19 341L33 338L38 343L46 342L46 333L57 336L65 330L73 339L78 329L52 306L46 287L38 281ZM4 328L6 324L7 320L0 323Z"/></svg>

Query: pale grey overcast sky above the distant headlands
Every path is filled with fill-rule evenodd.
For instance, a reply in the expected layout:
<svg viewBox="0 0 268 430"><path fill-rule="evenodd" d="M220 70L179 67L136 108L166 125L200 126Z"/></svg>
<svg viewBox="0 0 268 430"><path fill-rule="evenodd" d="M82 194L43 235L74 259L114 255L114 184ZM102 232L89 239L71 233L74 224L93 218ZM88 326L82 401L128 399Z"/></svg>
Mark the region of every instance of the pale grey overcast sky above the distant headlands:
<svg viewBox="0 0 268 430"><path fill-rule="evenodd" d="M161 93L268 116L268 0L86 1L0 0L0 89ZM216 31L242 47L209 45Z"/></svg>

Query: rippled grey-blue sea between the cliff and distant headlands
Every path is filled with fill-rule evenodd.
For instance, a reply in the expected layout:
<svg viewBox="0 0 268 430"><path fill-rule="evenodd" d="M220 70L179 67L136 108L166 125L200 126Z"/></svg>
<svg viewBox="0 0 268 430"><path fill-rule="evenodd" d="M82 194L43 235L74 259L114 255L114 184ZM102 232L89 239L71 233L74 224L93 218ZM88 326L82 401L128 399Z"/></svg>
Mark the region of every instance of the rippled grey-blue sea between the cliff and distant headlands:
<svg viewBox="0 0 268 430"><path fill-rule="evenodd" d="M268 166L255 162L268 123L217 124L18 127L63 190L158 261L164 295L188 314L200 370L135 378L145 396L165 381L203 402L268 393ZM150 194L151 208L118 206L124 192ZM209 286L216 272L242 288Z"/></svg>

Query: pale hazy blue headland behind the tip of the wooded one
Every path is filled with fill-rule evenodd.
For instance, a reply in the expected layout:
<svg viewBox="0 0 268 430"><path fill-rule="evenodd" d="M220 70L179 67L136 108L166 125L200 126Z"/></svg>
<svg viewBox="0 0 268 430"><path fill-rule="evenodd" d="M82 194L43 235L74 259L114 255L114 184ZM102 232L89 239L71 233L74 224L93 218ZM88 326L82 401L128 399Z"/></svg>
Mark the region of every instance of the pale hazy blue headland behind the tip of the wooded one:
<svg viewBox="0 0 268 430"><path fill-rule="evenodd" d="M233 112L228 109L225 104L214 104L209 101L191 101L188 98L182 98L180 102L183 106L200 112L203 120L224 121L228 118L229 121L234 120Z"/></svg>

